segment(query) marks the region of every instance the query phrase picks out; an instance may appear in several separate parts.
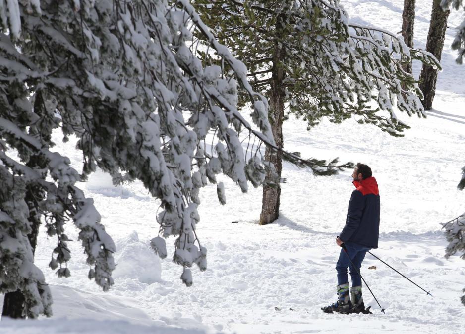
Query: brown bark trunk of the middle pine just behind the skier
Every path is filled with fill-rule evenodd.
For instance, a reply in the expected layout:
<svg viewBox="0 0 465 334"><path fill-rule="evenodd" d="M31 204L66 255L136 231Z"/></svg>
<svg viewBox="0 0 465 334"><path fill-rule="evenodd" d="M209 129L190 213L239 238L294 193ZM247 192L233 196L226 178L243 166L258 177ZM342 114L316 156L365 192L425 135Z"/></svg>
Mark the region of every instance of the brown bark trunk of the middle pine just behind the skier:
<svg viewBox="0 0 465 334"><path fill-rule="evenodd" d="M282 30L284 23L282 23L284 17L278 17L276 23L277 31ZM283 80L285 78L285 71L282 67L282 61L285 59L286 53L279 43L276 43L276 53L273 59L273 68L271 76L271 94L270 94L270 113L269 120L271 124L271 130L275 139L276 146L283 148L283 121L284 121L284 99L286 97L285 87ZM268 147L265 150L265 160L272 162L276 168L276 172L281 177L281 171L283 170L283 163L281 155L277 152L273 152ZM271 181L269 173L265 177L265 183ZM279 216L279 204L281 197L281 186L277 184L274 187L270 187L266 184L263 185L263 197L262 197L262 212L260 214L260 225L266 225L272 223Z"/></svg>

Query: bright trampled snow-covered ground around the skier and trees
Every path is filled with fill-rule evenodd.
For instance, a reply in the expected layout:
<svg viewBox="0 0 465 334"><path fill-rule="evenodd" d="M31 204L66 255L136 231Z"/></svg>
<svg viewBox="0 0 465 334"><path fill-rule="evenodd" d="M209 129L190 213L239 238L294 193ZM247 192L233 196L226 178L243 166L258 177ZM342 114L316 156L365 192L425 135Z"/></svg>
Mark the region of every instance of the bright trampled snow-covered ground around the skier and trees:
<svg viewBox="0 0 465 334"><path fill-rule="evenodd" d="M417 0L415 46L424 47L431 1ZM347 0L351 19L393 32L401 29L403 1ZM386 315L364 288L373 315L328 315L320 307L336 299L334 239L345 223L351 170L315 177L285 164L280 219L259 226L261 188L242 194L225 182L227 204L206 187L198 234L208 248L208 269L193 270L194 285L180 281L181 270L160 261L148 247L158 234L158 203L141 184L113 187L103 173L81 184L93 197L102 223L118 252L115 285L103 293L87 279L88 266L78 242L71 242L71 277L47 268L55 240L40 233L36 263L51 284L54 318L2 321L3 334L36 333L463 333L465 262L444 258L446 240L439 222L465 211L465 192L456 189L465 164L465 65L450 50L463 12L452 12L442 56L444 70L427 119L399 115L411 125L405 138L392 138L354 119L341 125L322 122L310 132L301 121L285 123L285 148L303 157L363 162L372 167L380 188L382 214L379 249L373 253L431 296L391 269L366 257L362 275ZM414 67L416 75L419 66ZM59 141L59 136L57 136ZM58 144L72 152L72 143ZM76 167L80 156L70 157ZM236 223L232 223L236 222ZM77 240L70 225L67 234ZM171 240L168 245L172 244ZM376 266L375 270L368 270ZM0 298L1 302L1 298ZM280 310L275 310L278 307ZM293 310L290 310L292 308Z"/></svg>

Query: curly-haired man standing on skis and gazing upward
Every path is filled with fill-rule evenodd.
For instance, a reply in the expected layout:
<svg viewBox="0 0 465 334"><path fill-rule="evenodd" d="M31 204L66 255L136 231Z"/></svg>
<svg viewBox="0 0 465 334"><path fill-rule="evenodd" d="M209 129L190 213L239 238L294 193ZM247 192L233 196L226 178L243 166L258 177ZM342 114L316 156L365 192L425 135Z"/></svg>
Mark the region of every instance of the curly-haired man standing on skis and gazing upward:
<svg viewBox="0 0 465 334"><path fill-rule="evenodd" d="M321 308L327 313L360 313L365 311L359 270L366 252L372 248L378 248L379 236L379 191L376 179L371 175L371 168L360 163L357 164L352 174L352 183L356 189L350 197L346 226L336 238L338 246L345 245L345 249L341 248L336 265L338 301ZM349 257L356 268L353 268ZM348 267L352 280L350 297Z"/></svg>

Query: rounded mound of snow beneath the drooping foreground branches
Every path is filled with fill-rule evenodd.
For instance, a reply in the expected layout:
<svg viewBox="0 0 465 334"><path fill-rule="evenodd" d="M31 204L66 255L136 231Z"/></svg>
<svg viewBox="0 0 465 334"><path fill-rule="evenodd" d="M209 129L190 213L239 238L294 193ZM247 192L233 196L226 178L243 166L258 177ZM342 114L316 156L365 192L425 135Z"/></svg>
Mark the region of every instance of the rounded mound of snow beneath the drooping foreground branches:
<svg viewBox="0 0 465 334"><path fill-rule="evenodd" d="M115 262L113 278L132 278L146 284L161 280L160 258L148 243L139 241L135 231L126 238L116 241Z"/></svg>

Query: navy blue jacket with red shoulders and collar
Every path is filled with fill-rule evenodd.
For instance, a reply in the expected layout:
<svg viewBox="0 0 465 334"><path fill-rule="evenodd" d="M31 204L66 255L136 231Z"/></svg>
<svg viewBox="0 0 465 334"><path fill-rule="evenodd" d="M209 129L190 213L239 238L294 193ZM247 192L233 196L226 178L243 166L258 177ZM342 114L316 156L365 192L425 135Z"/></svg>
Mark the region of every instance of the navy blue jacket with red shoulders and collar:
<svg viewBox="0 0 465 334"><path fill-rule="evenodd" d="M374 177L353 181L355 190L349 201L346 226L339 239L378 248L380 200Z"/></svg>

